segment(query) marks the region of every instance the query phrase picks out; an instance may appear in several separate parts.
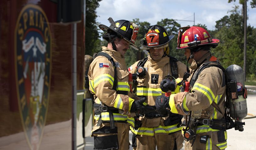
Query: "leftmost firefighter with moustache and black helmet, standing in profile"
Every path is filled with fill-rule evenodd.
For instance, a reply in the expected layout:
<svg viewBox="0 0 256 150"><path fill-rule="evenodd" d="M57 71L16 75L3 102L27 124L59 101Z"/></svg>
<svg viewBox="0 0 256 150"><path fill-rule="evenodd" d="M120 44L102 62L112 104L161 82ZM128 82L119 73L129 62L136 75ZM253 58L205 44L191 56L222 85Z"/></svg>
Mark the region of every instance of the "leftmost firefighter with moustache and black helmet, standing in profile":
<svg viewBox="0 0 256 150"><path fill-rule="evenodd" d="M94 149L129 148L129 125L127 114L144 114L154 111L142 103L145 98L134 101L130 92L128 71L125 64L125 52L129 45L137 49L138 26L127 20L113 21L110 17L109 27L100 24L99 28L106 33L103 38L108 41L102 52L94 55L90 64L88 78L89 90L94 95ZM131 98L133 97L133 98Z"/></svg>

